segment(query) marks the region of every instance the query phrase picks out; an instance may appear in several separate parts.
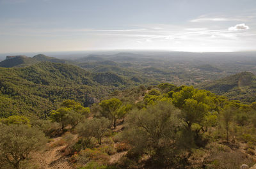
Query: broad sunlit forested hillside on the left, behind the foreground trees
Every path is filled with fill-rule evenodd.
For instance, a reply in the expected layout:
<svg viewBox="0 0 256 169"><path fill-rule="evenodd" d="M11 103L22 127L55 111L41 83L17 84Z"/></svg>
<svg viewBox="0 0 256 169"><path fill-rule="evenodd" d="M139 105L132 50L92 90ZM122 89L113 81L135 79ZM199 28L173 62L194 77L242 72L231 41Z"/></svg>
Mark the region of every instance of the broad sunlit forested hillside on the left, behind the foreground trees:
<svg viewBox="0 0 256 169"><path fill-rule="evenodd" d="M0 117L29 113L44 116L63 99L75 99L88 106L130 85L135 84L115 73L90 73L54 62L0 68Z"/></svg>

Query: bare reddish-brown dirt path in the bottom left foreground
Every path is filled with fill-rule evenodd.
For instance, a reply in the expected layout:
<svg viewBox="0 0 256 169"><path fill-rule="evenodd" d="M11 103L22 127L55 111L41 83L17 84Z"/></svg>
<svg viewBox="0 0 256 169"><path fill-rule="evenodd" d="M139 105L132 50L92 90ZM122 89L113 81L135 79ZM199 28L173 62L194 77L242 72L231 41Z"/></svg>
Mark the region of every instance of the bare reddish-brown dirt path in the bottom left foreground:
<svg viewBox="0 0 256 169"><path fill-rule="evenodd" d="M57 145L56 147L51 147L52 144L61 140L61 137L54 138L52 142L47 143L46 151L42 153L37 153L33 157L35 161L38 161L40 168L44 169L73 169L73 167L68 163L68 158L61 155L61 149L66 145Z"/></svg>

